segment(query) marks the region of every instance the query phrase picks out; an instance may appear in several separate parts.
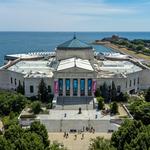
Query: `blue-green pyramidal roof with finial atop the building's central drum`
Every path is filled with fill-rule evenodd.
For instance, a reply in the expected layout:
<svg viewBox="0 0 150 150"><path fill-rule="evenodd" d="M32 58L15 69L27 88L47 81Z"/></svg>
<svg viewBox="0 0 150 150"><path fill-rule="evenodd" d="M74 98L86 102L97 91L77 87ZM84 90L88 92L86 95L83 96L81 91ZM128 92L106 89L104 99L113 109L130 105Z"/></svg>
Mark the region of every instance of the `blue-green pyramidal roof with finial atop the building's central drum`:
<svg viewBox="0 0 150 150"><path fill-rule="evenodd" d="M88 45L85 42L80 41L74 35L72 40L69 40L63 44L58 45L57 49L59 50L67 50L67 49L92 49L91 45Z"/></svg>

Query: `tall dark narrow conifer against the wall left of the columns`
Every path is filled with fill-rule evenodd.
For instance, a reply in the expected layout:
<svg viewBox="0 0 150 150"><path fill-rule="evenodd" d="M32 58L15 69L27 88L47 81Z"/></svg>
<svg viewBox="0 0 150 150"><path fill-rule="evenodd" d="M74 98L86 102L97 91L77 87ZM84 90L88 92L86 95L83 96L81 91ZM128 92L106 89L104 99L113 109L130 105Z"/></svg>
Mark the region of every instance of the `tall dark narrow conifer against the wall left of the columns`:
<svg viewBox="0 0 150 150"><path fill-rule="evenodd" d="M47 90L46 84L44 82L44 79L41 79L41 82L39 84L38 96L39 96L40 101L42 101L42 102L48 101L48 90Z"/></svg>

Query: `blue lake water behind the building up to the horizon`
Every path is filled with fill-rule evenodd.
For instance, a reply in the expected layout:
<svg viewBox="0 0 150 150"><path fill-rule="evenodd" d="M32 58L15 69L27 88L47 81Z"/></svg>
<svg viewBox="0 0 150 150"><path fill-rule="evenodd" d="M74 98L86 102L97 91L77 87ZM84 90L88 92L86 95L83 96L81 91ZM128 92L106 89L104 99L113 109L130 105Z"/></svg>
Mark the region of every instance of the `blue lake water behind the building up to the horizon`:
<svg viewBox="0 0 150 150"><path fill-rule="evenodd" d="M117 34L128 39L150 39L150 32L79 32L77 38L87 43ZM53 51L58 44L70 40L72 32L0 32L0 65L6 54ZM110 49L97 47L100 52Z"/></svg>

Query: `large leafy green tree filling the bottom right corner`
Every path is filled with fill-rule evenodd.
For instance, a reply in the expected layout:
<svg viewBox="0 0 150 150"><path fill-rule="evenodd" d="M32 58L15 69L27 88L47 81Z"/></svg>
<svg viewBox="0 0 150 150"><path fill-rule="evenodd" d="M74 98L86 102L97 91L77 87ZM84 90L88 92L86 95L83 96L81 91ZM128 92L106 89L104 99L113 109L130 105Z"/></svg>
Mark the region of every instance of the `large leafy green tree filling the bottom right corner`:
<svg viewBox="0 0 150 150"><path fill-rule="evenodd" d="M125 120L113 133L111 144L117 150L147 150L150 147L150 126L144 126L141 121Z"/></svg>

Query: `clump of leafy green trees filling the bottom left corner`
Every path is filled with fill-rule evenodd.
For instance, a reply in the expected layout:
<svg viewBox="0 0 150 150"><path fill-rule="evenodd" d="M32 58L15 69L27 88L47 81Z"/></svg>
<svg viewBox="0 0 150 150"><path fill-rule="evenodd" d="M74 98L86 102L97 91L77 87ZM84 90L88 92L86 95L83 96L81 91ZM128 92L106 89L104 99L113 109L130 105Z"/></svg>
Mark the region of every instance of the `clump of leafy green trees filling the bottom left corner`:
<svg viewBox="0 0 150 150"><path fill-rule="evenodd" d="M5 143L10 146L10 149ZM5 130L2 139L0 136L0 150L5 150L5 147L8 150L50 150L47 130L40 122L32 123L29 129L11 125Z"/></svg>

